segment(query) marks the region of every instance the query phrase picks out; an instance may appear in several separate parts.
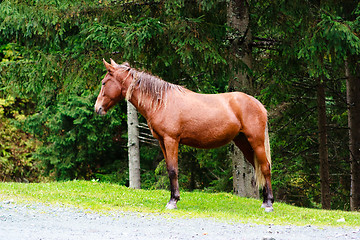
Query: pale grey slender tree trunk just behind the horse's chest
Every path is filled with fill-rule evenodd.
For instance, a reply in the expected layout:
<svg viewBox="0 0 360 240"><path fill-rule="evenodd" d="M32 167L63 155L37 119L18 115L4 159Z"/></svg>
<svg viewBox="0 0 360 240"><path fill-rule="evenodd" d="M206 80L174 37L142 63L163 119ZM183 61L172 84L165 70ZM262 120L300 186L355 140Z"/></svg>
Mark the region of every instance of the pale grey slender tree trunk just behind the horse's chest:
<svg viewBox="0 0 360 240"><path fill-rule="evenodd" d="M136 108L127 102L129 187L140 189L139 120Z"/></svg>

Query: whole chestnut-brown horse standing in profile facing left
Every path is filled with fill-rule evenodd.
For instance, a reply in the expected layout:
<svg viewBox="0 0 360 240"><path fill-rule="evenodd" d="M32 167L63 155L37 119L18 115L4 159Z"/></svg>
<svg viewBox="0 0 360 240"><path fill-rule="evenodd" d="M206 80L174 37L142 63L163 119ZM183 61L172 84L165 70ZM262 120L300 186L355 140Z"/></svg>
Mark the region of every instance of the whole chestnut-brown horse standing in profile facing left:
<svg viewBox="0 0 360 240"><path fill-rule="evenodd" d="M106 114L126 98L146 118L166 160L171 185L167 208L176 208L180 199L179 144L208 149L234 141L254 166L257 185L264 187L262 207L273 210L267 112L258 100L241 92L199 94L137 71L128 63L103 62L108 72L95 111Z"/></svg>

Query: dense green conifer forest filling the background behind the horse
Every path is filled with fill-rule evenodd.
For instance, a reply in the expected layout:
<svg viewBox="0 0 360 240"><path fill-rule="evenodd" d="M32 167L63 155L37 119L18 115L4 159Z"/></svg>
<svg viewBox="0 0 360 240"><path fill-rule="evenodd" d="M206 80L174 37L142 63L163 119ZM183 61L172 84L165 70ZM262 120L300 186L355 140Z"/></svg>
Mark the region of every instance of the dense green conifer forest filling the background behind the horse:
<svg viewBox="0 0 360 240"><path fill-rule="evenodd" d="M230 91L236 66L269 112L276 201L324 207L326 180L332 209L358 209L360 5L233 1L249 12L249 68L234 60L229 2L1 1L1 181L128 184L126 102L93 110L103 58L201 93ZM160 148L140 151L142 188L167 188ZM232 191L228 146L182 146L179 159L183 189Z"/></svg>

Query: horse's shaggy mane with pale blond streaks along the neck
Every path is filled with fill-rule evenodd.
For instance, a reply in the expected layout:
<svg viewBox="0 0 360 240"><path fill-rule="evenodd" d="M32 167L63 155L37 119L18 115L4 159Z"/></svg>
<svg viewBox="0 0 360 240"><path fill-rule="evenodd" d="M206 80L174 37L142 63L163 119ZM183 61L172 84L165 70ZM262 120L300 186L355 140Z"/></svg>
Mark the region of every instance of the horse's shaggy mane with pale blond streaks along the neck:
<svg viewBox="0 0 360 240"><path fill-rule="evenodd" d="M185 92L185 88L176 84L172 84L162 80L161 78L151 75L145 71L138 71L131 68L128 63L120 65L121 68L129 71L133 80L126 92L126 100L129 100L135 89L139 90L138 104L144 106L148 103L150 97L150 105L155 109L166 106L167 94L172 91Z"/></svg>

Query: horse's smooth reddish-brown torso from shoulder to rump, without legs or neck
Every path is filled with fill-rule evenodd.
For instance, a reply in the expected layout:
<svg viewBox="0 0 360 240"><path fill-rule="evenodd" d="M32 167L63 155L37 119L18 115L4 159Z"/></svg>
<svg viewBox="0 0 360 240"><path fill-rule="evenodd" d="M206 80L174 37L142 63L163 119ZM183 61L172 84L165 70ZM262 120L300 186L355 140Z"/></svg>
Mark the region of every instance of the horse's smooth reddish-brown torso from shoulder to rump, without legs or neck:
<svg viewBox="0 0 360 240"><path fill-rule="evenodd" d="M169 95L166 107L149 122L157 138L169 136L199 148L219 147L249 129L249 122L260 122L263 115L261 103L240 92L177 95Z"/></svg>

